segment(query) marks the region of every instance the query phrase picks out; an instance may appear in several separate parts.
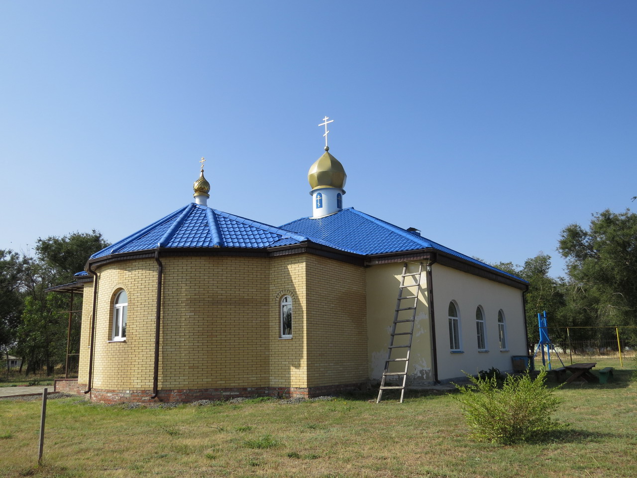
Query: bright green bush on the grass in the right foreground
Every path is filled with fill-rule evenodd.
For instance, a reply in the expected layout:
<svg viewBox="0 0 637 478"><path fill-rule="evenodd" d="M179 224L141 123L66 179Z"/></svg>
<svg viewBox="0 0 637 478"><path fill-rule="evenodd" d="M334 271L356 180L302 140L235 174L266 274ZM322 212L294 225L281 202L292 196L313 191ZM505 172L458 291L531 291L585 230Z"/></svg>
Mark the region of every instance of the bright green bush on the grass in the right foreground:
<svg viewBox="0 0 637 478"><path fill-rule="evenodd" d="M547 371L533 379L529 373L521 377L508 375L501 388L497 377L468 376L471 385L459 386L461 403L473 436L478 440L510 445L540 440L552 431L562 430L566 424L554 421L550 414L560 400L545 384Z"/></svg>

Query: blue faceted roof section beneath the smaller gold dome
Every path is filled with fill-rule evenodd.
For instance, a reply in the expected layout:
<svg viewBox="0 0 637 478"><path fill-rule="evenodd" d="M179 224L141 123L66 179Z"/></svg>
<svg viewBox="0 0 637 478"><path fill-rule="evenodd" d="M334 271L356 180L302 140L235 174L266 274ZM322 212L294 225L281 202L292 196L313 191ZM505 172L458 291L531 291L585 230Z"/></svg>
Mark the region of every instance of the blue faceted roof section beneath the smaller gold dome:
<svg viewBox="0 0 637 478"><path fill-rule="evenodd" d="M190 203L159 221L96 252L91 259L162 248L243 247L258 249L288 245L307 238L268 224Z"/></svg>

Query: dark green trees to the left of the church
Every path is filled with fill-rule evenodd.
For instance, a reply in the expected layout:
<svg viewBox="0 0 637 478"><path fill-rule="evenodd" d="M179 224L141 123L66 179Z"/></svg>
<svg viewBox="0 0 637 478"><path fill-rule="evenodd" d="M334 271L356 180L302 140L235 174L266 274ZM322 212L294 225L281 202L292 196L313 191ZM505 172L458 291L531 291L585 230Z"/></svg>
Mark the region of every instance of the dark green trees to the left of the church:
<svg viewBox="0 0 637 478"><path fill-rule="evenodd" d="M0 353L22 359L20 372L45 370L66 363L68 294L48 292L52 286L73 282L91 254L108 243L101 233L71 233L39 238L34 256L0 249ZM76 294L74 309L82 308ZM70 352L78 353L79 314L71 328Z"/></svg>

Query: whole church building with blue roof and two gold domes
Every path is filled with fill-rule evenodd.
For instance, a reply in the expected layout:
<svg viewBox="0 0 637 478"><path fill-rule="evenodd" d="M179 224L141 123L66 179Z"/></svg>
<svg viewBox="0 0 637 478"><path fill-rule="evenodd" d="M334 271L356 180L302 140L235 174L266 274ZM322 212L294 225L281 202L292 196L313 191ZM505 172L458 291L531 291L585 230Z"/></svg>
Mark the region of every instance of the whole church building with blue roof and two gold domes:
<svg viewBox="0 0 637 478"><path fill-rule="evenodd" d="M56 389L103 403L311 397L512 370L527 282L344 207L346 179L326 146L311 215L274 227L209 206L202 166L194 202L67 284L83 292L80 365Z"/></svg>

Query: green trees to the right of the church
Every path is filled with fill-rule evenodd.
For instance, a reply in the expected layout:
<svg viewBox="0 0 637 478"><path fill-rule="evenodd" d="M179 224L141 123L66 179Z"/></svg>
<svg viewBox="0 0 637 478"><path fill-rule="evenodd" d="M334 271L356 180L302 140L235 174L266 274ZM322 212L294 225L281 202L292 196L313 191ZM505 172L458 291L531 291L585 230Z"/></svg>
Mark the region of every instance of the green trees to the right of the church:
<svg viewBox="0 0 637 478"><path fill-rule="evenodd" d="M612 328L622 327L625 344L637 346L637 214L605 210L592 215L587 229L569 224L557 252L566 259L564 277L549 277L551 257L542 252L522 266L492 264L529 281L529 342L537 344L538 313L546 310L555 343L566 343L566 327L575 341L610 341Z"/></svg>

